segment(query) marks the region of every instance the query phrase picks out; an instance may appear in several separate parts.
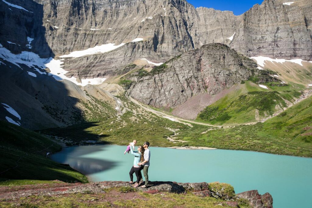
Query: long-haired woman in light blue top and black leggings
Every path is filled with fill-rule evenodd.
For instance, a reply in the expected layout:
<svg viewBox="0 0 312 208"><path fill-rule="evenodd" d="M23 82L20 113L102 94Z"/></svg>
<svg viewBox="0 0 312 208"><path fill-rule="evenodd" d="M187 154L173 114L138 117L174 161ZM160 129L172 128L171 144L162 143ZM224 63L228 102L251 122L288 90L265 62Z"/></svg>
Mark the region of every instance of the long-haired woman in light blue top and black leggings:
<svg viewBox="0 0 312 208"><path fill-rule="evenodd" d="M129 172L130 175L130 183L133 184L133 173L135 173L136 177L137 177L137 182L134 185L134 187L138 187L139 186L139 182L142 178L142 174L141 174L141 166L138 165L139 162L143 162L144 161L144 157L141 157L142 155L144 155L144 147L143 146L139 146L138 148L138 152L134 152L132 150L132 148L130 148L131 154L134 155L134 161L133 161L133 166L131 167L131 170Z"/></svg>

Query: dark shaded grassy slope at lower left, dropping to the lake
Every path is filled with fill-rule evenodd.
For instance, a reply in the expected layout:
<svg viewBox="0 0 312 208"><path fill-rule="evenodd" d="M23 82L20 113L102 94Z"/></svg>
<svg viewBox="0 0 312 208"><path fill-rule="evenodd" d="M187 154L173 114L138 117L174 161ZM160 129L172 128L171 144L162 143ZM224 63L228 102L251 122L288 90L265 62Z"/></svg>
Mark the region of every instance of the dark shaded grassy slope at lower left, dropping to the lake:
<svg viewBox="0 0 312 208"><path fill-rule="evenodd" d="M29 180L88 181L71 167L46 158L47 152L58 151L61 146L39 133L0 121L0 134L0 185Z"/></svg>

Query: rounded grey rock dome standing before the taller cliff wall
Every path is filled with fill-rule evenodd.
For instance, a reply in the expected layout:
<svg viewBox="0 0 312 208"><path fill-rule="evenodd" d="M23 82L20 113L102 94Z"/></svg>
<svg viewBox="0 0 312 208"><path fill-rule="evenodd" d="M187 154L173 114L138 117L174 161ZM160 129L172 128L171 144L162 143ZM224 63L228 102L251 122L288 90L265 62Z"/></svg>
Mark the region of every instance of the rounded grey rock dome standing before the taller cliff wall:
<svg viewBox="0 0 312 208"><path fill-rule="evenodd" d="M212 43L185 52L143 77L138 74L130 96L156 107L176 107L196 94L216 94L247 80L256 66L228 46Z"/></svg>

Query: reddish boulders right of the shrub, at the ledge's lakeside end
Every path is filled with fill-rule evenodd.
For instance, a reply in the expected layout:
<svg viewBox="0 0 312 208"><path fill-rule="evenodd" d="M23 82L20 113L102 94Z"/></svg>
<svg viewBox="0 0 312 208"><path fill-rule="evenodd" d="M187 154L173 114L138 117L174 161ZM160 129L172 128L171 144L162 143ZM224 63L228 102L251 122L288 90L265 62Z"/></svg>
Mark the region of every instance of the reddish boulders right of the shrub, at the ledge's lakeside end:
<svg viewBox="0 0 312 208"><path fill-rule="evenodd" d="M271 194L265 193L262 196L258 193L257 190L245 191L239 194L236 194L237 197L246 199L250 202L251 207L255 208L272 208L273 207L273 198Z"/></svg>

